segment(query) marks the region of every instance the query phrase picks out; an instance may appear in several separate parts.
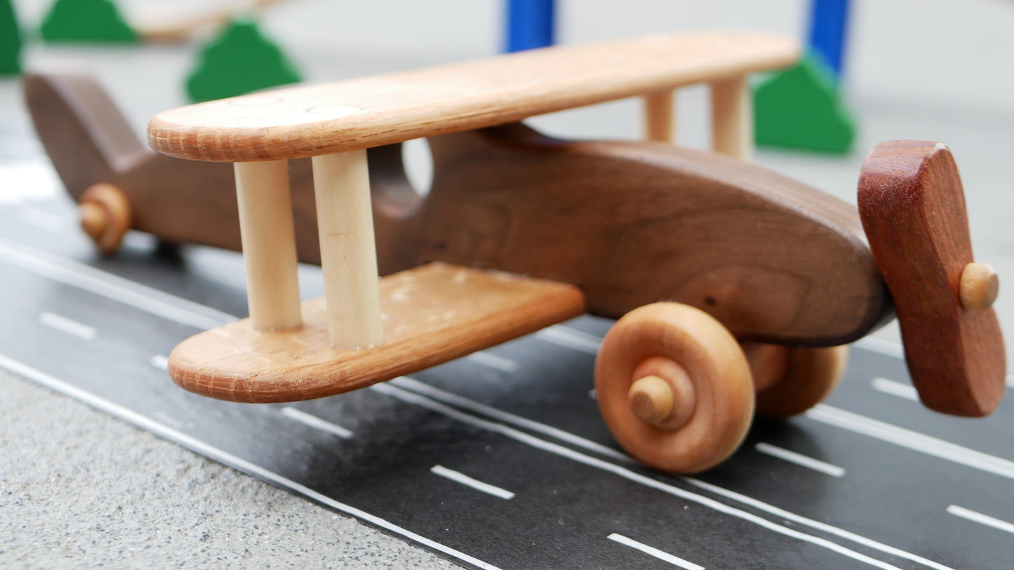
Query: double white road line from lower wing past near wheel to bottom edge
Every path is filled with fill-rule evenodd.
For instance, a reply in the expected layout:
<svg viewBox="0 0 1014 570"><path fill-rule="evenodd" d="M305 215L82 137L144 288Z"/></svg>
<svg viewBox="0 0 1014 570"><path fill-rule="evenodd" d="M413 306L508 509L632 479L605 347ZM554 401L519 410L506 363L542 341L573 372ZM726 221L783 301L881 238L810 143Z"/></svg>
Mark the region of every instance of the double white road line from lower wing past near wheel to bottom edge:
<svg viewBox="0 0 1014 570"><path fill-rule="evenodd" d="M493 422L493 421L490 421L490 420L486 420L486 419L482 419L482 418L476 417L474 415L464 413L464 412L459 411L457 409L451 408L451 407L449 407L447 405L444 405L444 404L441 404L441 403L436 402L434 400L431 400L431 399L429 399L429 398L427 398L425 396L421 396L419 394L414 394L414 393L409 392L407 390L403 390L401 388L396 388L395 386L391 386L390 383L387 383L387 384L375 384L375 385L371 386L370 389L374 390L376 392L379 392L381 394L385 394L387 396L390 396L392 398L395 398L397 400L401 400L403 402L410 403L410 404L415 404L415 405L418 405L420 407L427 408L427 409L429 409L431 411L434 411L436 413L445 415L445 416L447 416L449 418L456 419L456 420L458 420L458 421L460 421L462 423L467 423L467 424L473 425L475 427L479 427L480 429L486 429L487 431L492 431L492 432L495 432L495 433L500 433L501 435L504 435L506 437L510 437L511 439L514 439L516 441L520 441L520 442L525 443L527 445L531 445L532 447L535 447L535 449L538 449L538 450L542 450L542 451L551 453L551 454L558 455L560 457L572 460L574 462L586 465L586 466L594 468L594 469L599 469L599 470L605 471L607 473L612 473L613 475L618 475L618 476L620 476L620 477L622 477L624 479L627 479L628 481L632 481L634 483L638 483L638 484L644 485L645 487L650 487L652 489L661 491L663 493L666 493L666 494L669 494L669 495L673 495L673 496L676 496L676 497L680 497L680 498L682 498L684 500L694 501L694 502L696 502L698 504L701 504L703 506L712 508L714 510L717 510L719 512L728 514L730 516L735 516L736 518L740 518L740 519L746 520L748 522L752 522L754 524L757 524L758 526L763 526L763 527L768 528L770 531L773 531L775 533L779 533L779 534L785 535L787 537L799 539L800 541L804 541L804 542L807 542L807 543L810 543L810 544L813 544L813 545L816 545L816 546L828 549L828 550L830 550L832 552L837 552L839 554L842 554L842 555L847 556L849 558L852 558L854 560L858 560L860 562L865 562L866 564L869 564L871 566L875 566L877 568L883 568L885 570L887 570L887 569L896 570L896 568L897 568L897 567L892 566L892 565L890 565L890 564L888 564L886 562L883 562L881 560L877 560L875 558L872 558L872 557L866 556L864 554L858 553L856 551L853 551L851 549L848 549L848 548L846 548L846 547L844 547L844 546L842 546L842 545L840 545L838 543L834 543L834 542L828 541L826 539L822 539L822 538L819 538L819 537L814 537L812 535L807 535L805 533L801 533L799 531L796 531L796 530L793 530L793 528L789 528L787 526L783 526L783 525L781 525L781 524L779 524L777 522L774 522L772 520L768 520L767 518L757 516L756 514L753 514L753 513L750 513L750 512L746 512L746 511L741 510L739 508L727 505L727 504L725 504L723 502L720 502L718 500L706 497L704 495L700 495L698 493L694 493L692 491L686 491L684 489L680 489L679 487L675 487L673 485L669 485L667 483L663 483L661 481L652 479L651 477L647 477L645 475L641 475L639 473L631 471L630 469L628 469L628 468L626 468L624 466L615 465L615 464L609 463L609 462L607 462L605 460L600 460L600 459L597 459L597 458L586 456L586 455L584 455L584 454L582 454L580 452L577 452L575 450L572 450L570 447L565 447L563 445L560 445L560 444L557 444L557 443L553 443L553 442L547 441L545 439L539 439L538 437L535 437L534 435L530 435L530 434L525 433L523 431L519 431L517 429L514 429L513 427L509 427L509 426L504 425L502 423L496 423L496 422ZM766 503L764 503L762 501L758 501L756 499L751 499L751 498L746 497L744 495L740 495L739 493L736 493L734 491L729 491L727 489L722 489L721 487L716 487L715 485L711 485L710 483L705 483L703 481L697 481L697 480L691 479L691 478L682 478L682 479L685 480L686 482L693 484L693 485L697 485L699 487L702 487L702 488L711 490L713 492L716 492L716 494L720 494L720 495L726 496L728 498L733 498L733 499L742 501L742 502L744 502L746 504L749 504L750 506L753 506L755 508L767 510L767 511L772 512L772 513L774 513L774 514L776 514L778 516L781 516L781 517L793 520L794 522L799 522L799 523L806 524L806 525L809 525L809 526L814 527L814 528L818 528L818 530L826 532L826 533L830 533L830 534L837 535L837 536L842 537L844 539L848 539L850 541L859 543L859 544L861 544L861 545L863 545L865 547L872 548L872 549L875 549L875 550L879 550L881 552L884 552L886 554L890 554L892 556L897 556L897 557L900 557L900 558L906 558L908 560L912 560L914 562L917 562L919 564L923 564L925 566L929 566L931 568L935 568L937 570L953 570L953 569L951 569L948 566L944 566L942 564L936 563L936 562L934 562L932 560L928 560L928 559L923 558L921 556L918 556L918 555L906 552L906 551L900 550L900 549L896 549L894 547L887 546L887 545L882 544L882 543L878 543L876 541L867 539L865 537L861 537L859 535L856 535L854 533L850 533L850 532L845 531L843 528L838 528L836 526L831 526L830 524L826 524L826 523L823 523L823 522L817 522L816 520L811 520L809 518L804 517L804 516L800 516L798 514L795 514L795 513L792 513L792 512L788 512L788 511L780 509L778 507L774 507L772 505L768 505L768 504L766 504Z"/></svg>

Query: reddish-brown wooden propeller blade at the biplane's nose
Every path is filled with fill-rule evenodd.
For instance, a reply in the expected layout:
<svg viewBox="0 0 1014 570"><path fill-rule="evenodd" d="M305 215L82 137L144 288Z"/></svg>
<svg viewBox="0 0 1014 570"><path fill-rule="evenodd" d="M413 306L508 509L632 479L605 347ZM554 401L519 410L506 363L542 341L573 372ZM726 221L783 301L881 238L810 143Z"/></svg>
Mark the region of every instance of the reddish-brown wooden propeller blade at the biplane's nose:
<svg viewBox="0 0 1014 570"><path fill-rule="evenodd" d="M925 141L877 145L863 165L859 211L923 403L949 414L990 413L1004 393L1004 342L992 309L968 310L959 301L972 254L950 151Z"/></svg>

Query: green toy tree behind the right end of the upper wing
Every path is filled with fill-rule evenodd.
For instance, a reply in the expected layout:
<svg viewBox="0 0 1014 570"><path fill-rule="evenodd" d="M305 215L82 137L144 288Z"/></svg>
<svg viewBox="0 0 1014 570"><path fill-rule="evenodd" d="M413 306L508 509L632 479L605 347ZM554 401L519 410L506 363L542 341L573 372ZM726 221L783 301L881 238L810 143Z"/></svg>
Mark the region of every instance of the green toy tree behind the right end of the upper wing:
<svg viewBox="0 0 1014 570"><path fill-rule="evenodd" d="M834 75L813 55L762 83L753 107L757 145L847 153L856 137Z"/></svg>

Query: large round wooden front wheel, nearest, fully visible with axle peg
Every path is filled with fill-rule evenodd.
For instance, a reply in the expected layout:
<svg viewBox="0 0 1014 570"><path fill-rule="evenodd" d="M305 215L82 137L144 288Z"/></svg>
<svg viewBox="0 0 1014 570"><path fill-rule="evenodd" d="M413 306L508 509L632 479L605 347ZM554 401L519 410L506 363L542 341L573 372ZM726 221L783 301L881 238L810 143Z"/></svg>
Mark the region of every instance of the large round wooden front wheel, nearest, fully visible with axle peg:
<svg viewBox="0 0 1014 570"><path fill-rule="evenodd" d="M677 303L646 305L617 321L595 359L595 392L617 441L673 473L728 458L753 417L739 344L714 317Z"/></svg>

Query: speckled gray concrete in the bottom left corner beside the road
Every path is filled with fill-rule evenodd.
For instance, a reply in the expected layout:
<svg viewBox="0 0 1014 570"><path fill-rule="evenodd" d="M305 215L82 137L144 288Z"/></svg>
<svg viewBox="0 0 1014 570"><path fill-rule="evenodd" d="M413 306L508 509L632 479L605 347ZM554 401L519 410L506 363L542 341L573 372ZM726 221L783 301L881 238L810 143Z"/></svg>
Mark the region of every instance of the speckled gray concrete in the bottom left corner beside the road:
<svg viewBox="0 0 1014 570"><path fill-rule="evenodd" d="M0 372L0 566L451 568Z"/></svg>

